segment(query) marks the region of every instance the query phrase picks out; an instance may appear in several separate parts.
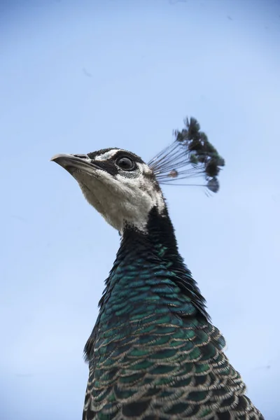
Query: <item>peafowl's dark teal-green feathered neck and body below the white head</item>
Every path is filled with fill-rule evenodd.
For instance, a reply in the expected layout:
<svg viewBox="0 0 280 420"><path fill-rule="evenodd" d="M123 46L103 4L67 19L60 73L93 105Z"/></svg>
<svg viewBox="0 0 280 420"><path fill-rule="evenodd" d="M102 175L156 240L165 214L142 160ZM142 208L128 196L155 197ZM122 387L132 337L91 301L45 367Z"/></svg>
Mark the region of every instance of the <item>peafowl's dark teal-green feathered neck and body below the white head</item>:
<svg viewBox="0 0 280 420"><path fill-rule="evenodd" d="M127 230L85 355L83 420L264 420L223 353L172 223L152 212Z"/></svg>

